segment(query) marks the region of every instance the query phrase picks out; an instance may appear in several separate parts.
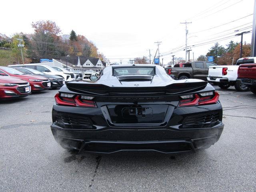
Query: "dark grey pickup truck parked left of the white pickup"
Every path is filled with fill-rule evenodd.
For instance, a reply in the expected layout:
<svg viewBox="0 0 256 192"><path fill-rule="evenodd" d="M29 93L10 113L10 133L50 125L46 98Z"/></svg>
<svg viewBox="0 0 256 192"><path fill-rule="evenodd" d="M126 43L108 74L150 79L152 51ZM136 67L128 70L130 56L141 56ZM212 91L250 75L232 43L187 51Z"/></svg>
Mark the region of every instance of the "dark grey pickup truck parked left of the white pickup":
<svg viewBox="0 0 256 192"><path fill-rule="evenodd" d="M193 61L183 65L183 67L166 67L166 73L174 79L202 79L207 80L209 66L217 64L208 61Z"/></svg>

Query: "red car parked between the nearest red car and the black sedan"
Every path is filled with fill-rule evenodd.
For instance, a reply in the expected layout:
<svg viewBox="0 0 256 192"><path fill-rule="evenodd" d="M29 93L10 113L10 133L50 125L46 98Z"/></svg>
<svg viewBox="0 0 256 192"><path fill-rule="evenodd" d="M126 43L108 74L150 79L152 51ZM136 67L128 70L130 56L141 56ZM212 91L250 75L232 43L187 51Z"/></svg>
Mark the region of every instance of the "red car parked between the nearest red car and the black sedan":
<svg viewBox="0 0 256 192"><path fill-rule="evenodd" d="M47 78L38 75L26 75L10 67L0 67L0 74L1 73L26 80L27 82L29 82L32 92L48 90L51 86L50 80L48 80Z"/></svg>

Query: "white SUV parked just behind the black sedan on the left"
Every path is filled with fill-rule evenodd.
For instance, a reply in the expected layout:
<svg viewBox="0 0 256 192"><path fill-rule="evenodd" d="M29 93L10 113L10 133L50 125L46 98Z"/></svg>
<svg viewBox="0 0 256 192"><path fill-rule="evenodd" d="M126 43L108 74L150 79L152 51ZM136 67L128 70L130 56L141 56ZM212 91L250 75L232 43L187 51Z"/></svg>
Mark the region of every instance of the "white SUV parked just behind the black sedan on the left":
<svg viewBox="0 0 256 192"><path fill-rule="evenodd" d="M38 70L40 72L43 72L44 74L57 75L57 76L64 78L65 82L70 82L70 81L75 80L74 74L71 75L70 72L66 73L66 72L57 71L56 69L54 69L50 66L43 65L43 64L24 64L24 65L8 65L8 66L9 67L32 68L32 69Z"/></svg>

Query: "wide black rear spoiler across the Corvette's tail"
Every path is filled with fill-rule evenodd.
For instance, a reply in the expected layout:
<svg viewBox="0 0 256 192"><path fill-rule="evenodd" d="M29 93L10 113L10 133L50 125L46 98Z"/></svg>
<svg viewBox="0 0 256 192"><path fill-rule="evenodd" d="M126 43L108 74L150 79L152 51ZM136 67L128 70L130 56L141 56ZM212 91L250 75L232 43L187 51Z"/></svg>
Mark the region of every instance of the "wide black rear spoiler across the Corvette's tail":
<svg viewBox="0 0 256 192"><path fill-rule="evenodd" d="M79 92L81 94L93 95L109 95L109 94L180 94L187 92L195 92L204 89L207 86L207 81L189 82L189 83L174 83L168 86L160 87L110 87L104 84L88 83L73 81L66 84L70 91Z"/></svg>

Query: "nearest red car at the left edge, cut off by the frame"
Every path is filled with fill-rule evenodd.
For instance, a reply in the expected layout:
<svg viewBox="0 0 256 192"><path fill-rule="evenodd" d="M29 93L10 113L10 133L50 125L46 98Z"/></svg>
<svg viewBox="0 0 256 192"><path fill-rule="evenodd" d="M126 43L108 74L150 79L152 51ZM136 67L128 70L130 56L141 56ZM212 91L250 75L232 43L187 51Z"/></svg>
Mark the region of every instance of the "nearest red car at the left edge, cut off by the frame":
<svg viewBox="0 0 256 192"><path fill-rule="evenodd" d="M31 93L27 81L10 77L0 71L0 100L26 97Z"/></svg>

